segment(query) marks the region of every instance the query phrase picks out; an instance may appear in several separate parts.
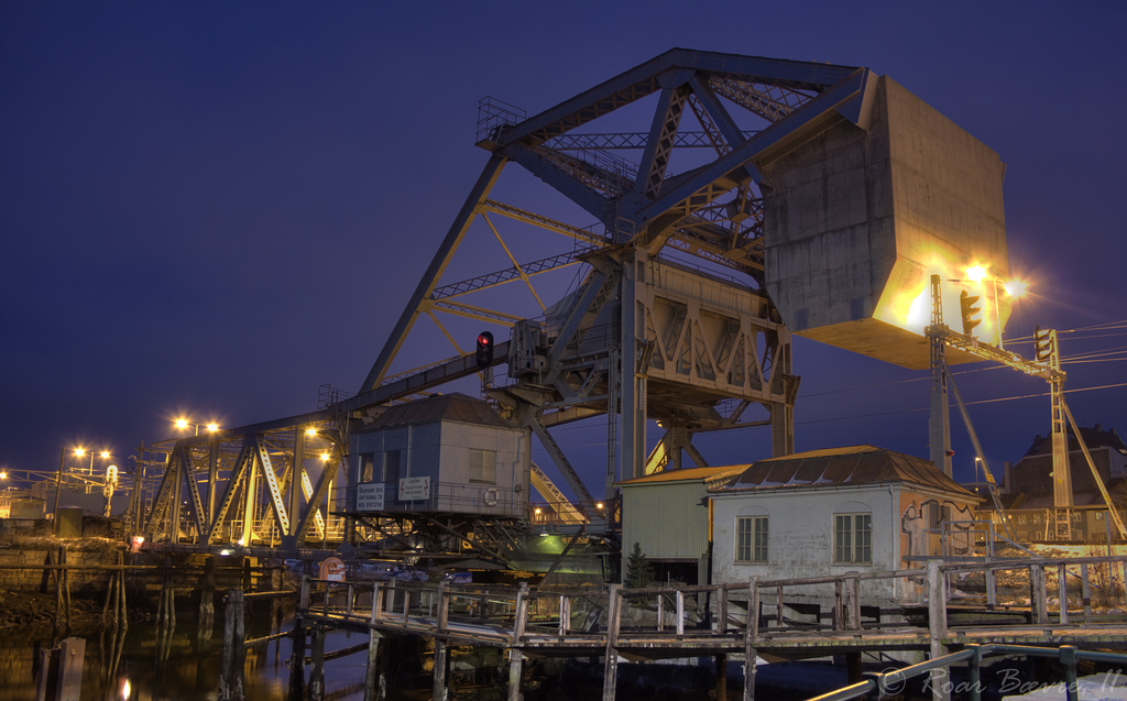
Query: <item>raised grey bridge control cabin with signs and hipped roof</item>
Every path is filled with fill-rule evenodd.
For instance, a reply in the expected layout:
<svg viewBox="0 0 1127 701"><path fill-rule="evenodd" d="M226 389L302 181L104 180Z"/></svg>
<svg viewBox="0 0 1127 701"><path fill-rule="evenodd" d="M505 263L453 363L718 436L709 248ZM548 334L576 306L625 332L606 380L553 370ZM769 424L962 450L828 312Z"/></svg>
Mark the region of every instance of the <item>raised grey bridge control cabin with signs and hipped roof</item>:
<svg viewBox="0 0 1127 701"><path fill-rule="evenodd" d="M388 407L352 436L357 513L527 516L530 437L452 393Z"/></svg>

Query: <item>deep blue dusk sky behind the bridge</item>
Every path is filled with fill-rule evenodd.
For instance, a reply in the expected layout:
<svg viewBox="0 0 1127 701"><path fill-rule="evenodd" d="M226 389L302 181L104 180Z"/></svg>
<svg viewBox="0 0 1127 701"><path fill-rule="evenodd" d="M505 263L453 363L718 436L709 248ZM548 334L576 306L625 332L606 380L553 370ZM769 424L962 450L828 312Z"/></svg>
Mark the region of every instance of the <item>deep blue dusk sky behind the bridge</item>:
<svg viewBox="0 0 1127 701"><path fill-rule="evenodd" d="M1111 352L1065 366L1067 398L1082 425L1127 429L1127 5L691 7L3 2L0 467L358 389L485 165L478 99L534 114L675 46L869 66L995 150L1036 293L1008 336L1109 326L1062 335L1066 361ZM928 456L925 372L804 340L795 369L799 450ZM956 380L999 471L1047 433L1044 382ZM955 412L952 434L969 477ZM601 436L560 434L596 473ZM763 429L701 446L770 454Z"/></svg>

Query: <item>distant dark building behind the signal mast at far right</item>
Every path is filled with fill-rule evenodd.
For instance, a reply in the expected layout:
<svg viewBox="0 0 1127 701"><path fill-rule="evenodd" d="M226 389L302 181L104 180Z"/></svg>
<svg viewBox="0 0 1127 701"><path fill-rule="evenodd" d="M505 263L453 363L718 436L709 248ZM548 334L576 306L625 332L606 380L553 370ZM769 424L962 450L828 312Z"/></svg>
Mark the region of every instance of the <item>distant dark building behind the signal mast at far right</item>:
<svg viewBox="0 0 1127 701"><path fill-rule="evenodd" d="M1103 497L1071 425L1067 435L1073 502L1076 506L1102 506ZM1106 487L1127 479L1127 443L1118 431L1104 431L1097 424L1093 428L1081 426L1080 435ZM1051 473L1053 441L1049 436L1036 436L1021 460L1008 465L1008 508L1053 508Z"/></svg>

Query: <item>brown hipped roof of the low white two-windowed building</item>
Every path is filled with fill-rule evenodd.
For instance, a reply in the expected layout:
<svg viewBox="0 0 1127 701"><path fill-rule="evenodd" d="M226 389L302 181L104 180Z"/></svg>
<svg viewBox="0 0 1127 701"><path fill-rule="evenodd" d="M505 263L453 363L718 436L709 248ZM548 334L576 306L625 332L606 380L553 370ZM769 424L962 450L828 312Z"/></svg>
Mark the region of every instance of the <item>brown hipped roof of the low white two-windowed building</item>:
<svg viewBox="0 0 1127 701"><path fill-rule="evenodd" d="M975 498L930 460L872 445L795 453L752 463L720 491L899 482Z"/></svg>

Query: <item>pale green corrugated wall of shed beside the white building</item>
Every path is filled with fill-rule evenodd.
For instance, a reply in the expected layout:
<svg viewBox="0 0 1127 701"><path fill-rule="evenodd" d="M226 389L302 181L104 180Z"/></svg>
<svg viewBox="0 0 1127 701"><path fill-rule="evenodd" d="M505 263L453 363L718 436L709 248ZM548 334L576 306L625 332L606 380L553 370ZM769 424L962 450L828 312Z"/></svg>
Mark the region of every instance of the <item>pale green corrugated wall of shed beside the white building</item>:
<svg viewBox="0 0 1127 701"><path fill-rule="evenodd" d="M635 543L649 560L707 558L706 494L702 480L623 485L622 571L627 571Z"/></svg>

